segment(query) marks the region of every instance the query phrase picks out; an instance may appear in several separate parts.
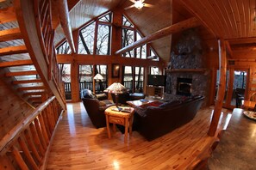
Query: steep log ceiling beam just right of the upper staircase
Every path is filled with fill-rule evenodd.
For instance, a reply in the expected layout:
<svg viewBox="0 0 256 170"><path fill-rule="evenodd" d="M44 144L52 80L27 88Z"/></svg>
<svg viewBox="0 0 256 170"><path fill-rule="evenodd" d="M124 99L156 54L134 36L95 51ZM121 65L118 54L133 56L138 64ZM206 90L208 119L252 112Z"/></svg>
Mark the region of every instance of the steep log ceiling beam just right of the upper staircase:
<svg viewBox="0 0 256 170"><path fill-rule="evenodd" d="M74 40L72 37L72 28L70 26L70 19L68 14L68 7L66 0L54 0L53 5L57 6L59 11L59 21L60 25L66 35L66 40L73 53L76 53Z"/></svg>

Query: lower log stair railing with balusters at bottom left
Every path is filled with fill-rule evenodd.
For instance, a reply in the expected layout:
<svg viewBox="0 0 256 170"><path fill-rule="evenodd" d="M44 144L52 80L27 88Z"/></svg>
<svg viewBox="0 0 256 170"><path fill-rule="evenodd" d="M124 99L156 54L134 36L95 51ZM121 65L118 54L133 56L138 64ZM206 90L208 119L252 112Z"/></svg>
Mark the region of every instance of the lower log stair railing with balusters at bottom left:
<svg viewBox="0 0 256 170"><path fill-rule="evenodd" d="M9 131L0 141L0 169L44 167L56 124L63 111L53 96Z"/></svg>

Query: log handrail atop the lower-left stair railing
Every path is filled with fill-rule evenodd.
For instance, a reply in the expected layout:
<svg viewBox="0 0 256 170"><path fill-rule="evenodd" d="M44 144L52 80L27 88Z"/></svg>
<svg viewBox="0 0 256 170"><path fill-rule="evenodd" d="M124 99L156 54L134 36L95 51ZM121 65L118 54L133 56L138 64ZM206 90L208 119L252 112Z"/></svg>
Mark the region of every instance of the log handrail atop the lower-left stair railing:
<svg viewBox="0 0 256 170"><path fill-rule="evenodd" d="M16 124L16 126L3 137L3 139L0 141L0 155L5 154L5 152L11 146L11 142L14 141L16 137L18 137L19 134L33 122L34 118L36 118L54 99L55 96L50 97L40 106L36 107L36 109L27 118L25 118L19 124Z"/></svg>

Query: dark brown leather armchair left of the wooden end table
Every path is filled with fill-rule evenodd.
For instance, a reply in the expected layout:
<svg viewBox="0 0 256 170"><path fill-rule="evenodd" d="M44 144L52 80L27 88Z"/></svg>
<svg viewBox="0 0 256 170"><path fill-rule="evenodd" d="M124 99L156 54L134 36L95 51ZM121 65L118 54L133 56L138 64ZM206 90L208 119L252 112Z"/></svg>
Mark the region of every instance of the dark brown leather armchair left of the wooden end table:
<svg viewBox="0 0 256 170"><path fill-rule="evenodd" d="M92 124L96 128L105 127L106 118L104 111L109 106L114 106L115 104L110 100L98 100L97 96L91 93L91 90L83 91L82 100Z"/></svg>

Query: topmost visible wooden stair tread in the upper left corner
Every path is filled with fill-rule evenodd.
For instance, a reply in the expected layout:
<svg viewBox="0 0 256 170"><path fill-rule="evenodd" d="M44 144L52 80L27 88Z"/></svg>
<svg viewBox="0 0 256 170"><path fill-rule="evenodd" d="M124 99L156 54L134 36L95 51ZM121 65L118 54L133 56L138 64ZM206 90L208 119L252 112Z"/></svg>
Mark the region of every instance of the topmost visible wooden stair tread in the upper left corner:
<svg viewBox="0 0 256 170"><path fill-rule="evenodd" d="M16 13L13 7L0 9L0 24L16 21Z"/></svg>

